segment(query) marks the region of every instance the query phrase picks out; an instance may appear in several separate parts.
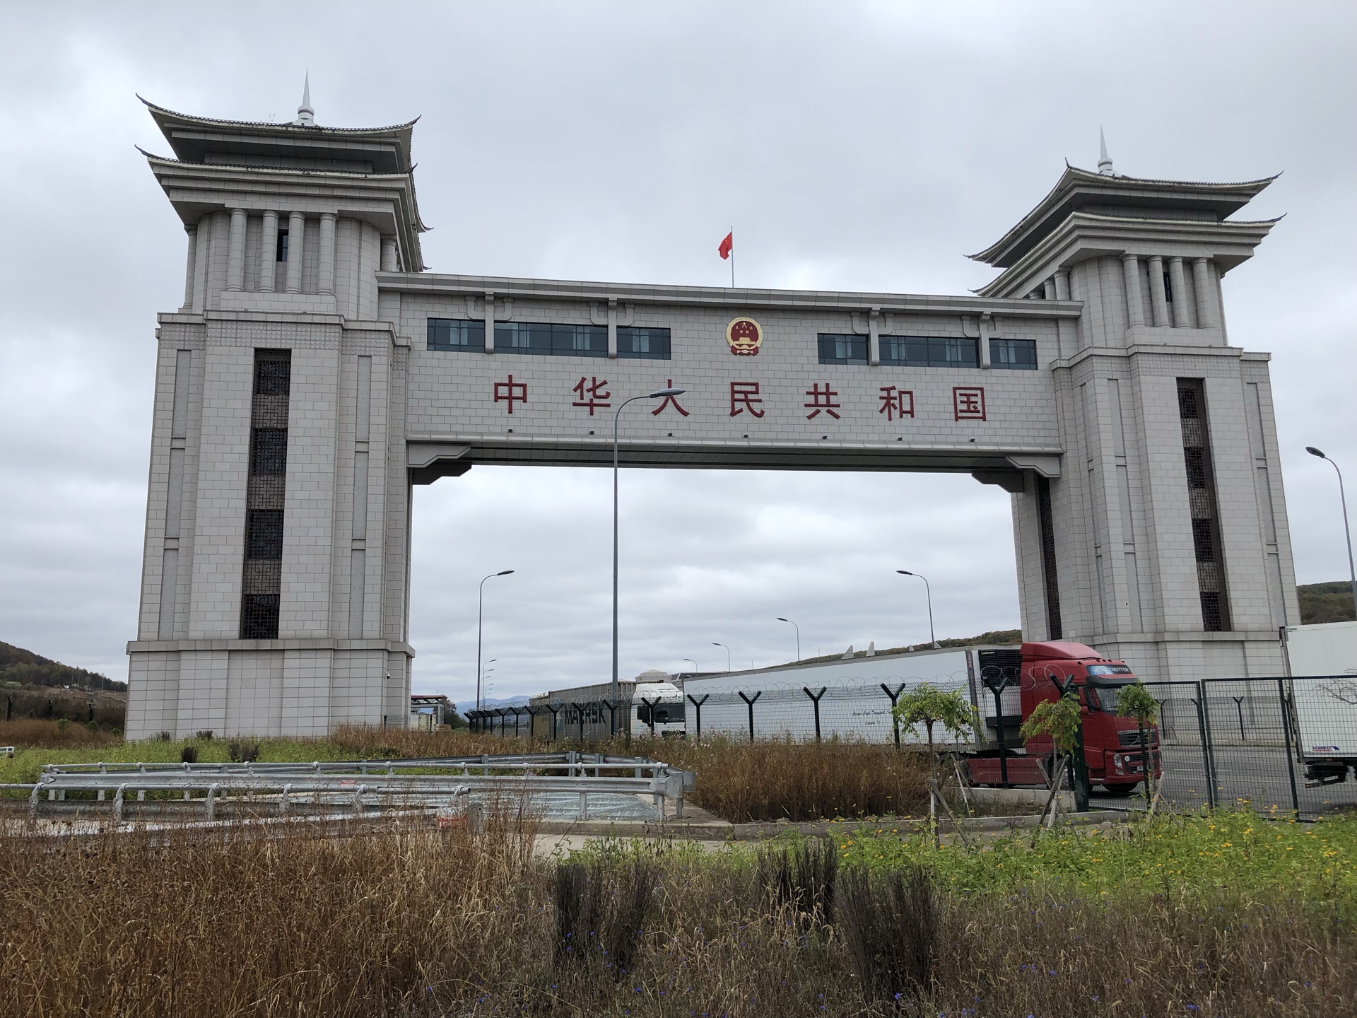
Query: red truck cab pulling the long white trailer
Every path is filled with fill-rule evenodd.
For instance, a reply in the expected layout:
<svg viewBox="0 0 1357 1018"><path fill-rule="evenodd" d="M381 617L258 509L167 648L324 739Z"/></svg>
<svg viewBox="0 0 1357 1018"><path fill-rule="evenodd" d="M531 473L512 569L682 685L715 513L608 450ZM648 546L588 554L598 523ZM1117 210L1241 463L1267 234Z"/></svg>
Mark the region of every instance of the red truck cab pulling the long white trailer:
<svg viewBox="0 0 1357 1018"><path fill-rule="evenodd" d="M1019 698L1022 719L1031 717L1038 703L1054 702L1061 683L1073 680L1083 717L1084 761L1088 783L1102 785L1107 791L1126 794L1145 776L1145 764L1158 778L1159 729L1151 725L1141 747L1141 732L1134 718L1117 714L1117 698L1124 685L1136 681L1134 673L1122 661L1111 661L1083 643L1052 641L1022 645L1022 672ZM1022 741L1016 733L1007 733L1007 760L1010 785L1046 785L1045 764L1050 756L1049 736L1035 736ZM996 751L970 760L972 780L977 785L999 785L1003 780Z"/></svg>

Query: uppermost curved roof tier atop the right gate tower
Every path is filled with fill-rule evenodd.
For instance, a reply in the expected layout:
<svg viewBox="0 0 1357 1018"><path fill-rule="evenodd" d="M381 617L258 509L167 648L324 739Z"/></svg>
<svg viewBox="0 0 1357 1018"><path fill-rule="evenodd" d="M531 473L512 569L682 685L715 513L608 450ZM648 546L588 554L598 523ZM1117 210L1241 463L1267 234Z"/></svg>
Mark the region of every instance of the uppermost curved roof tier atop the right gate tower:
<svg viewBox="0 0 1357 1018"><path fill-rule="evenodd" d="M1076 212L1118 219L1220 223L1280 175L1240 183L1198 183L1099 174L1067 163L1065 172L1037 208L996 243L970 258L996 269L1008 269Z"/></svg>

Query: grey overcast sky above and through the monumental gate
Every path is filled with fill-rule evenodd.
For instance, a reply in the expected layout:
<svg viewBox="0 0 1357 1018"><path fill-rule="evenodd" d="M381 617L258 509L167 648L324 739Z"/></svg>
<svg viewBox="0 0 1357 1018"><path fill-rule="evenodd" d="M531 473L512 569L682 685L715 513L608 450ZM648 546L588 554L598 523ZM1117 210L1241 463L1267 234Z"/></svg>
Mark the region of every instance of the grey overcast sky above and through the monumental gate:
<svg viewBox="0 0 1357 1018"><path fill-rule="evenodd" d="M1243 181L1286 219L1225 277L1273 353L1300 582L1346 576L1322 447L1357 497L1350 3L5 4L0 8L0 639L126 677L155 315L183 228L136 94L414 136L437 271L965 293L965 255L1092 167ZM415 690L608 673L609 475L476 467L417 489ZM1008 497L969 476L627 471L623 673L1018 624Z"/></svg>

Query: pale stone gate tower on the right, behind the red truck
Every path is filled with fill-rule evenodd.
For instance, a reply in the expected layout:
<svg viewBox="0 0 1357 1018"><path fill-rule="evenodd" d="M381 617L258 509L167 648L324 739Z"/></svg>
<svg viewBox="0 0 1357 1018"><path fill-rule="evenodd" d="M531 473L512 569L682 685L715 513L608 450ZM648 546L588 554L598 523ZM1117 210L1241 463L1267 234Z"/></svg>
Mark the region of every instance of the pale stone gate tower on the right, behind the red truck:
<svg viewBox="0 0 1357 1018"><path fill-rule="evenodd" d="M1277 220L1227 219L1276 178L1067 167L996 244L987 297L1083 301L1050 365L1058 478L1014 485L1023 633L1147 679L1281 675L1299 622L1269 354L1229 345L1221 277Z"/></svg>

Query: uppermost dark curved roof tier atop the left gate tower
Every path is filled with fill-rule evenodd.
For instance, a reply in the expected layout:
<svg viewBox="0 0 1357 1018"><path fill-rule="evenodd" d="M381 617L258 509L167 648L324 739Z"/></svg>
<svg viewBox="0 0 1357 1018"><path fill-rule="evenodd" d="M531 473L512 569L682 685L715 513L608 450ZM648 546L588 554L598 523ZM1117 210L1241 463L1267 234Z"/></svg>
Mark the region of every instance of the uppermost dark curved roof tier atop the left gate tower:
<svg viewBox="0 0 1357 1018"><path fill-rule="evenodd" d="M408 174L414 125L320 128L190 117L137 96L185 163L233 163L290 170Z"/></svg>

